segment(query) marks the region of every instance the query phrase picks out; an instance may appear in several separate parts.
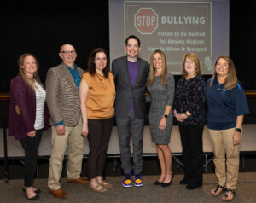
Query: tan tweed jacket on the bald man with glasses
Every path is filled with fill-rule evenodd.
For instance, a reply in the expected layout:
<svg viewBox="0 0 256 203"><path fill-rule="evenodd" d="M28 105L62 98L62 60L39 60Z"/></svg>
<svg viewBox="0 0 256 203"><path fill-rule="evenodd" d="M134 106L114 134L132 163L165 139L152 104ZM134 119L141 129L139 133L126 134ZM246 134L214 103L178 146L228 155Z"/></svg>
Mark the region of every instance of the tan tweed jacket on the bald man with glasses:
<svg viewBox="0 0 256 203"><path fill-rule="evenodd" d="M79 67L77 69L81 76L84 70ZM45 89L50 114L49 125L61 121L69 127L77 125L81 116L79 90L67 65L61 63L48 70Z"/></svg>

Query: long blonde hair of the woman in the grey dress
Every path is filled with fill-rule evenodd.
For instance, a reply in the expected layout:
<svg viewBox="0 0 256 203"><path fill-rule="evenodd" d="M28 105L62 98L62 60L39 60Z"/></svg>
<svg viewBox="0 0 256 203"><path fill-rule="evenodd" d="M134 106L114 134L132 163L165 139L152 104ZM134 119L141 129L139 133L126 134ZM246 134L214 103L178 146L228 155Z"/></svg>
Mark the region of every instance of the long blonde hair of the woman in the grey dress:
<svg viewBox="0 0 256 203"><path fill-rule="evenodd" d="M156 50L154 50L154 52L152 53L152 55L150 57L150 73L149 73L149 79L148 79L148 85L149 86L151 86L154 82L155 68L154 68L154 65L153 65L153 58L154 58L154 55L157 54L157 53L161 55L162 63L163 63L163 67L162 67L162 71L161 71L160 84L166 84L166 78L167 78L167 74L168 74L166 55L160 49L156 49Z"/></svg>

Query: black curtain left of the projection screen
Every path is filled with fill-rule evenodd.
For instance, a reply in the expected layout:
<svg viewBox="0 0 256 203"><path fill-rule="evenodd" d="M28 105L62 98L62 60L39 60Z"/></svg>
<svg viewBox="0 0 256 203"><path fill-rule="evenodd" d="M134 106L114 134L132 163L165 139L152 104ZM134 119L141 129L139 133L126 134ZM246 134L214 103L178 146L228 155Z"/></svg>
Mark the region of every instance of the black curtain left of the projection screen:
<svg viewBox="0 0 256 203"><path fill-rule="evenodd" d="M55 3L55 4L53 4ZM85 5L84 5L85 4ZM44 83L47 70L61 63L61 44L73 44L77 65L86 69L90 51L109 49L108 1L2 0L0 3L0 91L9 91L23 53L35 55Z"/></svg>

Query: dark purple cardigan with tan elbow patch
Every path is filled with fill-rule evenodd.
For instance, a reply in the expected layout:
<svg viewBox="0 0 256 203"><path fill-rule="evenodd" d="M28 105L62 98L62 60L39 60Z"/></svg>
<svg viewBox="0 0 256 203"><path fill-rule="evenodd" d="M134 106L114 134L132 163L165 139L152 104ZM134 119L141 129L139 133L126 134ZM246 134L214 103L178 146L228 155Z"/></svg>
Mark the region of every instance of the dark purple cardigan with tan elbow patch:
<svg viewBox="0 0 256 203"><path fill-rule="evenodd" d="M15 105L20 107L20 115L15 112ZM36 94L21 76L11 81L9 105L9 136L21 140L28 132L34 131L36 119ZM44 131L49 128L49 111L44 103Z"/></svg>

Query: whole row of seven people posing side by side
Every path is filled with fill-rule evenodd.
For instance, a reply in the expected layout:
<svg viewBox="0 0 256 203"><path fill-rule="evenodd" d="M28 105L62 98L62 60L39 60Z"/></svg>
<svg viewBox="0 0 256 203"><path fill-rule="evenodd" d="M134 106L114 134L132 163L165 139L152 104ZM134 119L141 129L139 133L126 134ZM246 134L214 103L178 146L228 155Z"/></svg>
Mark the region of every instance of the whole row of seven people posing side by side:
<svg viewBox="0 0 256 203"><path fill-rule="evenodd" d="M33 187L42 132L51 125L52 152L49 161L49 193L67 198L61 189L62 162L68 146L67 183L88 183L95 192L106 192L112 184L102 179L108 142L115 116L123 186L143 186L143 128L146 102L150 102L149 125L160 162L160 177L154 185L167 187L173 180L169 148L173 118L177 119L183 146L184 177L180 184L189 190L202 185L202 133L206 124L213 143L218 186L212 195L235 196L239 169L239 143L243 115L249 113L247 99L237 81L233 62L218 57L212 78L201 76L194 53L183 56L182 77L175 80L167 70L166 55L155 50L150 64L137 55L140 39L125 40L126 56L113 60L110 71L105 49L94 49L86 72L75 64L73 45L61 46L62 63L47 72L44 85L38 76L38 61L31 54L20 56L19 75L11 82L9 136L25 150L24 186L28 200L41 192ZM145 94L147 90L148 94ZM84 136L89 141L88 179L80 177ZM133 156L131 160L131 138Z"/></svg>

